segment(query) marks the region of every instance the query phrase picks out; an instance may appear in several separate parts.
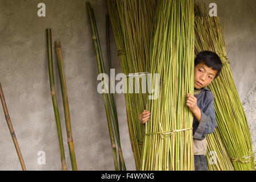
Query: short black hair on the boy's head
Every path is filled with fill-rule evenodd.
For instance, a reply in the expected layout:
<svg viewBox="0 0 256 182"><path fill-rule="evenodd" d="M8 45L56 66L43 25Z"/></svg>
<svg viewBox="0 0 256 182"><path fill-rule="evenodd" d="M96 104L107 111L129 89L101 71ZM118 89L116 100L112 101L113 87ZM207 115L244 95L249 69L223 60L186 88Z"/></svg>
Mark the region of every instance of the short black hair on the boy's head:
<svg viewBox="0 0 256 182"><path fill-rule="evenodd" d="M207 67L217 70L217 74L215 78L219 76L219 73L221 73L222 69L222 62L217 53L211 52L211 51L202 51L199 52L197 57L195 57L195 65L203 63Z"/></svg>

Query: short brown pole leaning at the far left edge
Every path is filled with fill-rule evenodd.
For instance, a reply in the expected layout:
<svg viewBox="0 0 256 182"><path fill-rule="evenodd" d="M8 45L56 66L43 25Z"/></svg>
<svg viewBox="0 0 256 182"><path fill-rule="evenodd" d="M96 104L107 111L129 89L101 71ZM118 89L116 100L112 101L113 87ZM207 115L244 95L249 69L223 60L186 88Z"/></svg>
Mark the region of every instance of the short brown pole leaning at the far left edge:
<svg viewBox="0 0 256 182"><path fill-rule="evenodd" d="M3 90L2 90L1 83L0 83L0 98L1 98L2 106L3 106L3 112L5 113L5 119L6 119L7 125L9 127L9 130L10 130L10 133L11 133L11 138L13 139L13 143L14 143L16 152L18 154L19 163L21 163L22 170L26 171L25 163L24 163L22 155L21 155L21 150L19 149L19 144L18 144L16 135L14 133L13 125L11 124L11 119L10 119L9 112L8 112L8 109L7 109L7 105L6 105L6 102L5 102L5 97L3 96Z"/></svg>

